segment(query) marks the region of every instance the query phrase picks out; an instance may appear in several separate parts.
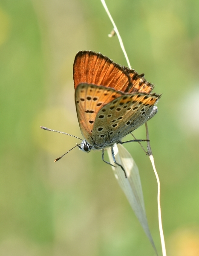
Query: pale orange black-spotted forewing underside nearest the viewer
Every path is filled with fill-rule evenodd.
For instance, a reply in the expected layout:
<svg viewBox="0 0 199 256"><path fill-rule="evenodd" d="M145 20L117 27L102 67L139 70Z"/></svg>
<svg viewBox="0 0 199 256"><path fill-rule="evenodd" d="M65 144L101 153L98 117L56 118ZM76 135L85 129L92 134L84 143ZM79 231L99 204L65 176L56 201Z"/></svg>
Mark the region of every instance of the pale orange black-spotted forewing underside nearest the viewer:
<svg viewBox="0 0 199 256"><path fill-rule="evenodd" d="M92 130L97 113L104 105L122 95L124 94L104 86L86 83L78 85L75 90L75 105L81 133L87 143L95 145Z"/></svg>

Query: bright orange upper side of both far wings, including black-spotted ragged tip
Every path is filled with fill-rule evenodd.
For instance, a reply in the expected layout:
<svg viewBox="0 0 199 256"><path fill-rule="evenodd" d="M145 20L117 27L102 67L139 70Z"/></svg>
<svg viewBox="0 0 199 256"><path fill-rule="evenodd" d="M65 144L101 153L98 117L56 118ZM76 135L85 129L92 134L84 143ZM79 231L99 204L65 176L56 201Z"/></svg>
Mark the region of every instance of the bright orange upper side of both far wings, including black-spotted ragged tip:
<svg viewBox="0 0 199 256"><path fill-rule="evenodd" d="M81 51L75 56L73 65L75 89L80 83L112 87L124 93L150 93L153 84L138 75L135 70L121 66L110 58L92 51Z"/></svg>

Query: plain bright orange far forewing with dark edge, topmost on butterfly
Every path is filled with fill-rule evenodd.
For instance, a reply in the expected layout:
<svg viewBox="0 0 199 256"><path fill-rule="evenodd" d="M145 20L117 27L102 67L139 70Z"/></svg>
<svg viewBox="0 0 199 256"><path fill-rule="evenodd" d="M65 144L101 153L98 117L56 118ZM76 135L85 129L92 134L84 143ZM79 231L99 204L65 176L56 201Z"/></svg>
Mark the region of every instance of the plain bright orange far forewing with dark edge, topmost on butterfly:
<svg viewBox="0 0 199 256"><path fill-rule="evenodd" d="M130 84L130 76L124 67L101 53L92 51L77 53L73 65L73 79L75 89L80 83L88 83L124 92Z"/></svg>

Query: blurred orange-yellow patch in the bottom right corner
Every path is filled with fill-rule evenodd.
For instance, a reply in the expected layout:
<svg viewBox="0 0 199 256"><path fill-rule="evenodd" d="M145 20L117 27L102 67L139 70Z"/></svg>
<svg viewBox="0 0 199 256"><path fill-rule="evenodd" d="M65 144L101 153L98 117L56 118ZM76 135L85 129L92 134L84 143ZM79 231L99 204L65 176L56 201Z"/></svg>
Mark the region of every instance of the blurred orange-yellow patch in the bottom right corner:
<svg viewBox="0 0 199 256"><path fill-rule="evenodd" d="M199 228L178 230L170 239L170 256L199 256Z"/></svg>

